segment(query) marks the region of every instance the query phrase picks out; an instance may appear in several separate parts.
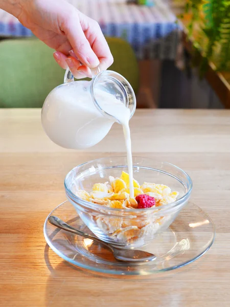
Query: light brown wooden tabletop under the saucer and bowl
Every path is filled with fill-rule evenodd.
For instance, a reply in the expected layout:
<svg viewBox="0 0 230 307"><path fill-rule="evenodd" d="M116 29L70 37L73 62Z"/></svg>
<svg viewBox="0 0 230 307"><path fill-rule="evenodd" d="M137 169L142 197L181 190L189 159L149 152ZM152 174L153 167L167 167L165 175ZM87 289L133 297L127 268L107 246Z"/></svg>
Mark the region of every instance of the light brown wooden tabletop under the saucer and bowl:
<svg viewBox="0 0 230 307"><path fill-rule="evenodd" d="M143 277L78 269L49 249L43 223L65 200L65 174L84 161L124 153L114 125L87 151L45 136L39 109L0 110L0 306L225 307L230 301L230 111L136 111L134 155L174 163L193 179L192 200L210 214L216 239L184 268Z"/></svg>

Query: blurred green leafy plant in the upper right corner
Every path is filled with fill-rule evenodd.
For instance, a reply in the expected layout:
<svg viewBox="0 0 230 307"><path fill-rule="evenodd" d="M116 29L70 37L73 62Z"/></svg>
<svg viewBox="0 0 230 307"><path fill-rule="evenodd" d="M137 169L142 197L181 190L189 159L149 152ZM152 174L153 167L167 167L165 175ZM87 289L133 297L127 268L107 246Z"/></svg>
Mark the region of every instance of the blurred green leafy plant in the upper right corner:
<svg viewBox="0 0 230 307"><path fill-rule="evenodd" d="M203 54L200 75L213 60L217 70L230 68L230 0L187 0L185 12L191 14L189 36L193 35L195 25L201 30L201 37L194 42L200 44Z"/></svg>

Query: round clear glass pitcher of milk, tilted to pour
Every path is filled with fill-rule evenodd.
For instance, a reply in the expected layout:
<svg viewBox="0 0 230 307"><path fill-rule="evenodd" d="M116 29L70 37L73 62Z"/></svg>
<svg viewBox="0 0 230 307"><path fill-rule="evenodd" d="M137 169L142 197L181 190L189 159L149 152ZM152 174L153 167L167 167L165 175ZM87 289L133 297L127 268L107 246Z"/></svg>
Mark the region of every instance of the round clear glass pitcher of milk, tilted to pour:
<svg viewBox="0 0 230 307"><path fill-rule="evenodd" d="M129 108L130 118L135 112L135 94L122 75L113 71L100 72L99 69L92 73L94 76L90 81L74 81L73 74L67 69L64 83L55 87L44 101L41 111L43 129L62 147L84 149L100 142L112 124L119 123L105 107L107 102L124 104Z"/></svg>

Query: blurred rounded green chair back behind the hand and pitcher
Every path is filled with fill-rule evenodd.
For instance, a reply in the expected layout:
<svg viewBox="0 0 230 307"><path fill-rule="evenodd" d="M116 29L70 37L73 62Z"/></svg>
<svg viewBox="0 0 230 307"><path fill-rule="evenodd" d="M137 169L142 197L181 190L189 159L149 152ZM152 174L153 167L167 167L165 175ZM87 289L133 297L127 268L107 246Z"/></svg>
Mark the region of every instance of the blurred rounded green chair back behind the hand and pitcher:
<svg viewBox="0 0 230 307"><path fill-rule="evenodd" d="M123 75L135 93L139 86L137 61L130 45L107 38L114 63L109 69ZM0 41L0 107L41 107L54 87L63 83L64 70L53 51L37 38Z"/></svg>

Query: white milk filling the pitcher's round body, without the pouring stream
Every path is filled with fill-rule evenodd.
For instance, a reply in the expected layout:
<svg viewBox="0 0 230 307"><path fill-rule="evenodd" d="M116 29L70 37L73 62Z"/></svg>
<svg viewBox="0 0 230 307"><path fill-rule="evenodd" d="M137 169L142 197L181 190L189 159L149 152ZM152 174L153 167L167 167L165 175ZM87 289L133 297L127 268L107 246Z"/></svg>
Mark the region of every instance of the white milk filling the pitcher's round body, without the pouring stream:
<svg viewBox="0 0 230 307"><path fill-rule="evenodd" d="M114 122L98 111L84 86L88 83L78 81L60 85L43 104L42 126L59 146L71 149L94 146L107 135Z"/></svg>

